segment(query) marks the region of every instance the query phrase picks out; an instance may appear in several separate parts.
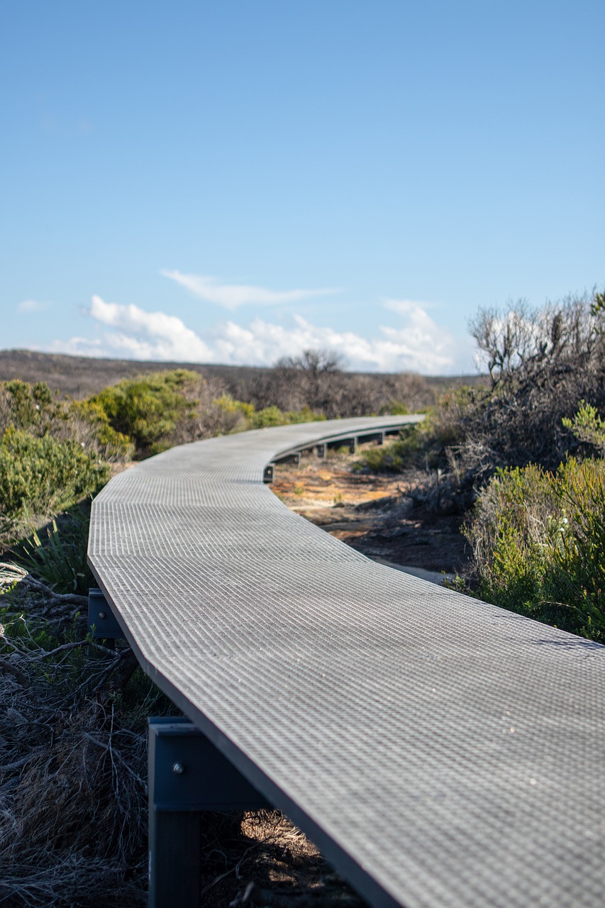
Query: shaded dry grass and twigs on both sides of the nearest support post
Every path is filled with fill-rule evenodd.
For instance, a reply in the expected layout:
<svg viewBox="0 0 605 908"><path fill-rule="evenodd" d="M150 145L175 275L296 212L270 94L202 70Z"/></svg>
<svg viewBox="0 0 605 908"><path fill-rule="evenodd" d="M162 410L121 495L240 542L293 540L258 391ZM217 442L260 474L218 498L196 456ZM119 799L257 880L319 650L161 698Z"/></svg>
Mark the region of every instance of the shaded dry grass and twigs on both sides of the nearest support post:
<svg viewBox="0 0 605 908"><path fill-rule="evenodd" d="M174 706L124 646L84 639L84 597L0 565L0 905L146 903L146 716ZM282 814L203 814L201 906L362 901Z"/></svg>

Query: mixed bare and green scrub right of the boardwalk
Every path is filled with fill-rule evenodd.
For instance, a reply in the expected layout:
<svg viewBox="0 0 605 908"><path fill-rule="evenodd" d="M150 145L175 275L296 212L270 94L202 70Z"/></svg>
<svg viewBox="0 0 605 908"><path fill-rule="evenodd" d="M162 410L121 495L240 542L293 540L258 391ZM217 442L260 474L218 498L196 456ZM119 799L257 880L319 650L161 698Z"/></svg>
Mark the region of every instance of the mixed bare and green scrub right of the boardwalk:
<svg viewBox="0 0 605 908"><path fill-rule="evenodd" d="M451 388L358 469L423 460L408 495L464 517L467 591L605 642L605 295L484 310L470 328L489 382Z"/></svg>

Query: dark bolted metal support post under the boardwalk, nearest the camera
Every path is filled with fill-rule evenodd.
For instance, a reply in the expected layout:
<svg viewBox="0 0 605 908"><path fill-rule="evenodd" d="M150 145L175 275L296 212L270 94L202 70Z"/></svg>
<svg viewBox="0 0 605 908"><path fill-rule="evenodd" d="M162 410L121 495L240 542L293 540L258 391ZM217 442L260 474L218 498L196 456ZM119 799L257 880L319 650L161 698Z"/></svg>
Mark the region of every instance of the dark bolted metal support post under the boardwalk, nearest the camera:
<svg viewBox="0 0 605 908"><path fill-rule="evenodd" d="M149 719L149 908L199 908L200 814L271 807L189 719Z"/></svg>

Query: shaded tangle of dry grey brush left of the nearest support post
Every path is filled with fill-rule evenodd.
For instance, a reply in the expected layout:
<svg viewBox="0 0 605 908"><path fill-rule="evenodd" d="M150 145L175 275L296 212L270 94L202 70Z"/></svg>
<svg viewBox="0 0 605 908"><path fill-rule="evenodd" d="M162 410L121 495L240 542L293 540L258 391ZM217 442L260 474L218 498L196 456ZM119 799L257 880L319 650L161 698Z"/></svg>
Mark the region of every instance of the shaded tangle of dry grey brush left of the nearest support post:
<svg viewBox="0 0 605 908"><path fill-rule="evenodd" d="M152 685L131 677L129 649L106 649L80 631L57 637L47 618L20 614L48 606L57 625L74 627L83 597L48 587L42 597L44 585L24 571L1 573L0 903L143 905Z"/></svg>

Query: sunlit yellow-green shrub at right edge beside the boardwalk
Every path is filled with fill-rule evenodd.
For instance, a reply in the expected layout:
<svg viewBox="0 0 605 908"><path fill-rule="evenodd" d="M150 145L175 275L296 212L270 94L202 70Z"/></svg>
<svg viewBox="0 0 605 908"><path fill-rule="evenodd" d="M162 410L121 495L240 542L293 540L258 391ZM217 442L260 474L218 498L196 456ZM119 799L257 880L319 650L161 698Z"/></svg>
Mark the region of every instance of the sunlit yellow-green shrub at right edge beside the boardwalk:
<svg viewBox="0 0 605 908"><path fill-rule="evenodd" d="M466 526L482 598L605 640L605 464L501 469Z"/></svg>

